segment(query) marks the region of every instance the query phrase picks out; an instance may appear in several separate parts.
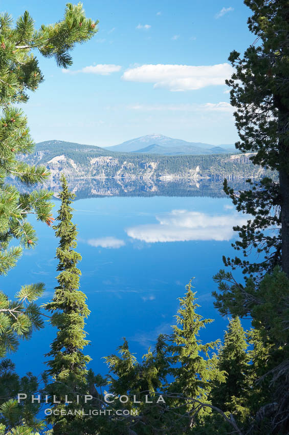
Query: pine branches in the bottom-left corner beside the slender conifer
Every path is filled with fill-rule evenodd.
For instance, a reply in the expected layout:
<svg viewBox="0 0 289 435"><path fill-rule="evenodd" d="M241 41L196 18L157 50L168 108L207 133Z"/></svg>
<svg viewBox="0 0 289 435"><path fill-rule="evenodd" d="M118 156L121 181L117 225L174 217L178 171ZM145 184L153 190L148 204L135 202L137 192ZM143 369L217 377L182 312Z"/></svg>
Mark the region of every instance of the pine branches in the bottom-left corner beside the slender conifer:
<svg viewBox="0 0 289 435"><path fill-rule="evenodd" d="M15 364L6 358L8 353L17 351L21 339L27 340L33 331L43 328L40 308L35 303L43 289L42 282L23 286L15 301L0 292L0 433L3 434L32 435L43 427L43 422L37 419L40 405L29 399L18 403L16 399L19 393L28 398L36 394L38 379L31 373L20 379Z"/></svg>

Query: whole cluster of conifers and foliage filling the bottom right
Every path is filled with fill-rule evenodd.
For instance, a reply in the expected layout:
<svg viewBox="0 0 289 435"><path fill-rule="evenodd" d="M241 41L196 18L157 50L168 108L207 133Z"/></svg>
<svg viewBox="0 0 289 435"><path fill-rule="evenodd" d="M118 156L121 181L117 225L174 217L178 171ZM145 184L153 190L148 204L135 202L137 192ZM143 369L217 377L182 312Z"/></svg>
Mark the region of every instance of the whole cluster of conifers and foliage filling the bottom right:
<svg viewBox="0 0 289 435"><path fill-rule="evenodd" d="M244 332L239 318L232 318L217 354L209 355L217 343L202 344L198 337L211 320L196 313L189 285L180 299L173 333L160 335L142 363L130 353L126 340L119 356L106 357L110 394L127 395L123 406L137 410L129 417L107 419L109 427L138 435L286 435L289 280L275 270L256 288L262 304L251 301L253 328ZM145 403L145 395L150 403ZM165 404L157 402L160 395Z"/></svg>

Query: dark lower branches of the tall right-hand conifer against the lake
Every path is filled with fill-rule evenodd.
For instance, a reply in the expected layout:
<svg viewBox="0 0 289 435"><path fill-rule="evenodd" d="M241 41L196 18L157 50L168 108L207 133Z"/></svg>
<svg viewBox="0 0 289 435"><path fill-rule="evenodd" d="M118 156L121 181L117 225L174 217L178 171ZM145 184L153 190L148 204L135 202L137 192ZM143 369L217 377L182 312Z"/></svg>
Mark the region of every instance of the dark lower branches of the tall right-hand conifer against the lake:
<svg viewBox="0 0 289 435"><path fill-rule="evenodd" d="M233 259L223 257L226 267L241 267L243 274L262 276L281 264L281 219L279 208L279 186L276 181L265 177L258 183L248 180L248 186L239 192L228 187L224 182L224 190L230 195L237 211L251 215L246 225L235 226L240 239L232 246L242 251L244 258ZM252 263L247 259L252 249L260 254L261 260Z"/></svg>

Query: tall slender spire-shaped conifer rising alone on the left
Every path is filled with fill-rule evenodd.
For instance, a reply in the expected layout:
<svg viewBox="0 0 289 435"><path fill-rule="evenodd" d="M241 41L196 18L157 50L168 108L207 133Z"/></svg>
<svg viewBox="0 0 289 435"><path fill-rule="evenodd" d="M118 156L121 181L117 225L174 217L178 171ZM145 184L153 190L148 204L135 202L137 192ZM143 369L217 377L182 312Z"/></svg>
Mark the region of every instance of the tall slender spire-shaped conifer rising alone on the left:
<svg viewBox="0 0 289 435"><path fill-rule="evenodd" d="M58 286L55 288L52 301L46 304L46 309L52 313L51 324L57 328L57 335L51 344L51 351L47 354L51 358L47 363L47 374L53 379L48 384L47 391L53 408L68 412L70 408L81 409L84 403L82 396L89 394L86 365L91 358L84 355L82 350L88 344L84 320L90 314L90 310L86 305L86 295L79 290L81 272L77 264L81 260L81 255L75 251L77 229L71 221L71 203L75 195L69 191L63 175L60 180L61 206L56 219L58 224L53 227L56 237L59 238L56 250L59 260L59 274L56 277ZM53 403L53 396L59 404ZM72 404L65 406L65 396ZM81 416L52 415L49 422L53 424L53 434L58 435L81 433L84 424Z"/></svg>

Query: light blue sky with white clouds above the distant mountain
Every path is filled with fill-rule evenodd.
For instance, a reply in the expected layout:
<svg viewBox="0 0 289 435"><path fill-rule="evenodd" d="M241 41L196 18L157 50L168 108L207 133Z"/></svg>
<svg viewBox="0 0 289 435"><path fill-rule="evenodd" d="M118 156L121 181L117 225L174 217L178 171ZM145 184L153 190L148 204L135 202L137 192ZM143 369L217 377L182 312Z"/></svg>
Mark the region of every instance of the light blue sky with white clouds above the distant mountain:
<svg viewBox="0 0 289 435"><path fill-rule="evenodd" d="M76 47L69 72L38 55L45 75L24 106L36 142L116 145L147 134L191 142L238 137L224 80L230 51L254 41L241 0L86 0L99 32ZM39 27L63 16L60 0L7 0ZM88 68L91 67L91 68ZM203 67L203 68L196 68Z"/></svg>

